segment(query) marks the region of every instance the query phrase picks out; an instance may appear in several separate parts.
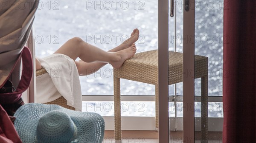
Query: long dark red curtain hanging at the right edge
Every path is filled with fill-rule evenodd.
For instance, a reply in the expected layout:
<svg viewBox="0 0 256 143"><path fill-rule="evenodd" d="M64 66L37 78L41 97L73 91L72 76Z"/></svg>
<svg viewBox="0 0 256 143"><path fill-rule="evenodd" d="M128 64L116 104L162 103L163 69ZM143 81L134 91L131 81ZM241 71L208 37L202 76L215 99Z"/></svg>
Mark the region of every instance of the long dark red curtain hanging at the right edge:
<svg viewBox="0 0 256 143"><path fill-rule="evenodd" d="M224 0L223 143L256 141L256 0Z"/></svg>

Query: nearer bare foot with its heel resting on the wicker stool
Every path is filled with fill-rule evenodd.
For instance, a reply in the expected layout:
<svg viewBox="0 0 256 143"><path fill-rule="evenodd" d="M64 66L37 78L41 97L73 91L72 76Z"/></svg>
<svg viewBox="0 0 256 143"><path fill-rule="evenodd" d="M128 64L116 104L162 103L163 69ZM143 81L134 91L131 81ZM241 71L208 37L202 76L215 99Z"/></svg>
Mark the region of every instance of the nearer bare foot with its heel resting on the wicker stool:
<svg viewBox="0 0 256 143"><path fill-rule="evenodd" d="M135 44L132 44L130 47L124 50L119 50L117 52L114 52L115 58L113 59L113 62L110 62L110 64L116 69L121 67L122 64L125 62L125 60L134 56L134 54L136 53L136 50L137 49Z"/></svg>

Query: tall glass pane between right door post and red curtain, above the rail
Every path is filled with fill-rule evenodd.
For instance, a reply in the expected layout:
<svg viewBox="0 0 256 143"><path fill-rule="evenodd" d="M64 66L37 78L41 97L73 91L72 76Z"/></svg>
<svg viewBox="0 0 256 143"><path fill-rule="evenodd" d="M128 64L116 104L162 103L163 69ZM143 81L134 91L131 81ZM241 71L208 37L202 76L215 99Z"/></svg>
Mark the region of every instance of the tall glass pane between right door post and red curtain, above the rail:
<svg viewBox="0 0 256 143"><path fill-rule="evenodd" d="M222 96L223 0L196 0L195 6L195 54L208 57L208 95ZM195 95L201 95L200 79Z"/></svg>

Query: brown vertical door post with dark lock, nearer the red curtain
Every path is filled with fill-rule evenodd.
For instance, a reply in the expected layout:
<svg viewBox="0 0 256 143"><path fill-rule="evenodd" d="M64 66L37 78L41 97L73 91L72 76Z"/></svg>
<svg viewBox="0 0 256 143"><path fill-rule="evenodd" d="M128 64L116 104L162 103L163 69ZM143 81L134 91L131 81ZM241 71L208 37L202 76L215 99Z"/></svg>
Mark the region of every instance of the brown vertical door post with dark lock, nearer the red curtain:
<svg viewBox="0 0 256 143"><path fill-rule="evenodd" d="M183 4L183 142L195 143L195 0Z"/></svg>

